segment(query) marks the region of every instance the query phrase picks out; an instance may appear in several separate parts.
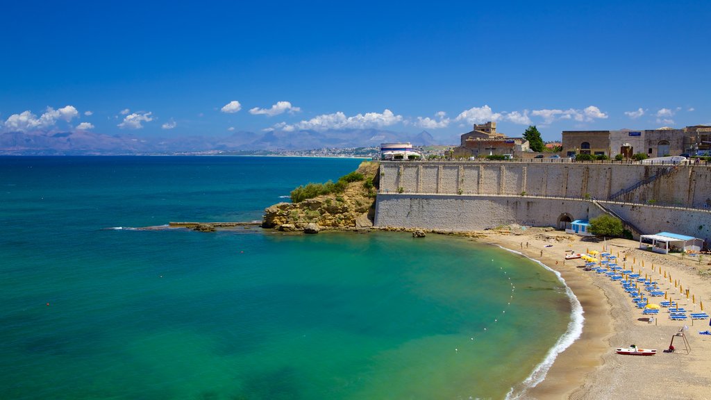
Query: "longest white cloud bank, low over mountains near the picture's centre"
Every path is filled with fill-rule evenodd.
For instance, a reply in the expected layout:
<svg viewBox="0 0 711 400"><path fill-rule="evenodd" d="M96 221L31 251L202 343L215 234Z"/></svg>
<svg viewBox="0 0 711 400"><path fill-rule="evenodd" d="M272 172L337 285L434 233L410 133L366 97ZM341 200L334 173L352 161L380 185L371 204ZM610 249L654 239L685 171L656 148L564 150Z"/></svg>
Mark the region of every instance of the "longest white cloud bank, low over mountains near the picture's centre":
<svg viewBox="0 0 711 400"><path fill-rule="evenodd" d="M380 112L366 112L365 114L346 117L343 112L338 111L333 114L323 114L303 120L296 124L289 125L286 122L279 122L274 125L274 129L292 132L294 130L341 130L341 129L365 129L372 127L387 127L397 122L402 122L402 115L395 115L392 111L385 109Z"/></svg>

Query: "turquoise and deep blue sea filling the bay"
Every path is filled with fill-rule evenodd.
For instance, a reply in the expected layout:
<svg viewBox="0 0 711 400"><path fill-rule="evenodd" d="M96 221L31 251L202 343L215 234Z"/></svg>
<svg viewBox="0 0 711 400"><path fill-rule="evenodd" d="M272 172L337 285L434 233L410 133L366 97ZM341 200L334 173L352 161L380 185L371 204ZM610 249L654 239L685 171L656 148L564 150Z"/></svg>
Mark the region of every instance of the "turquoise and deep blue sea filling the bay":
<svg viewBox="0 0 711 400"><path fill-rule="evenodd" d="M525 394L582 326L540 263L436 234L166 227L260 221L361 161L0 157L0 399Z"/></svg>

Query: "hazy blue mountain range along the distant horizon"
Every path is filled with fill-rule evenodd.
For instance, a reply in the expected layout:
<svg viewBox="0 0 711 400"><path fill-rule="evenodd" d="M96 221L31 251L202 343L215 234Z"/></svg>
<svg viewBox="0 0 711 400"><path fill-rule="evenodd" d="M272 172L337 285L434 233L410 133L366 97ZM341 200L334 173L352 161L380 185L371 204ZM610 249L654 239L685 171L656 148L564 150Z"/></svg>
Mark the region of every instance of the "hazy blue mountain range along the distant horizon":
<svg viewBox="0 0 711 400"><path fill-rule="evenodd" d="M77 132L5 132L0 154L146 154L208 151L306 150L377 147L384 142L437 144L427 131L417 135L377 129L234 132L228 136L139 137Z"/></svg>

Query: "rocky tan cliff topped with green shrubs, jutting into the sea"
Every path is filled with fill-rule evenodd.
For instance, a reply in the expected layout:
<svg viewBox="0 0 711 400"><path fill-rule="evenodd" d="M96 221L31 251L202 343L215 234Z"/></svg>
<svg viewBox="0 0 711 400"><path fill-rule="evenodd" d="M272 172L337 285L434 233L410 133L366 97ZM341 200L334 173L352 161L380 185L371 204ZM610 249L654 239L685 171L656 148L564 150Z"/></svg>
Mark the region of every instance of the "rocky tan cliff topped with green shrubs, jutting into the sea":
<svg viewBox="0 0 711 400"><path fill-rule="evenodd" d="M379 167L378 162L364 161L354 173L332 184L337 190L311 199L299 199L292 192L294 202L274 204L264 210L262 228L314 233L314 228L319 231L320 228L355 229L373 226ZM295 191L309 188L309 185Z"/></svg>

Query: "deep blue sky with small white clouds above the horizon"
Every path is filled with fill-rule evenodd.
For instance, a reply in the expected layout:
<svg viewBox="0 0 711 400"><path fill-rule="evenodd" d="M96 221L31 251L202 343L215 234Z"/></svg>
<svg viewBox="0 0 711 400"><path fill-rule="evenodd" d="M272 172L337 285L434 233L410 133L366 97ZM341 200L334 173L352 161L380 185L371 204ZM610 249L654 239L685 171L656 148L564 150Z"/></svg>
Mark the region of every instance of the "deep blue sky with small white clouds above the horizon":
<svg viewBox="0 0 711 400"><path fill-rule="evenodd" d="M711 1L4 1L0 132L711 125Z"/></svg>

